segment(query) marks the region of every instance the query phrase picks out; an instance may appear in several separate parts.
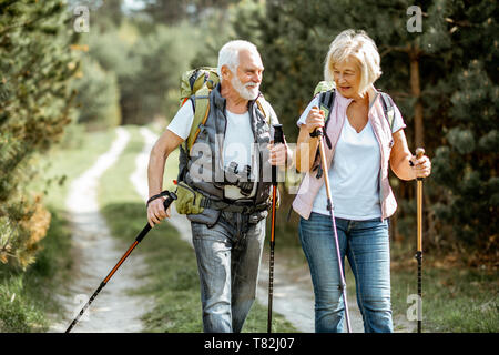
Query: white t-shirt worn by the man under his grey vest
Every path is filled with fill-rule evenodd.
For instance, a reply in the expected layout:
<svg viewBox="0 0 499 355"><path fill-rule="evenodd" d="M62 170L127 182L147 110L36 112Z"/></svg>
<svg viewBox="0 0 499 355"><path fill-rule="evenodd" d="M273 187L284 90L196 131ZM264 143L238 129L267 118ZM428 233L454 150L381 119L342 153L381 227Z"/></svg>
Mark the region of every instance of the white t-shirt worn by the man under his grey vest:
<svg viewBox="0 0 499 355"><path fill-rule="evenodd" d="M266 109L271 115L271 123L277 124L278 120L272 106L268 104ZM240 171L245 165L249 165L253 176L252 181L254 181L254 176L258 176L257 155L255 152L257 146L254 144L255 138L251 125L249 112L246 111L245 113L238 114L225 110L225 115L227 118L227 126L223 146L224 168L227 168L233 161L237 163ZM187 100L177 111L166 129L183 140L186 140L191 132L193 121L194 110L192 101ZM273 134L274 132L271 125L271 136L273 136ZM230 200L253 197L256 193L256 184L254 184L253 191L248 196L241 194L240 189L233 185L226 185L224 187L224 193L225 197Z"/></svg>

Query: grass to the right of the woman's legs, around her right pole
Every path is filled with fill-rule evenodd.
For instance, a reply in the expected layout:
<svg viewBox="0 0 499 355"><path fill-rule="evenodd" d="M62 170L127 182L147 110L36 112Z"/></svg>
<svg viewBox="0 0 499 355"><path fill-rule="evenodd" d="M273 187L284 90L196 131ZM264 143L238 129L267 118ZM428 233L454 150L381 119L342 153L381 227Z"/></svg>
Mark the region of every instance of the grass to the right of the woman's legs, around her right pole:
<svg viewBox="0 0 499 355"><path fill-rule="evenodd" d="M407 313L417 294L417 263L407 244L393 245L394 312ZM400 260L404 258L401 262ZM446 264L427 252L422 258L424 332L499 332L499 280L495 271Z"/></svg>

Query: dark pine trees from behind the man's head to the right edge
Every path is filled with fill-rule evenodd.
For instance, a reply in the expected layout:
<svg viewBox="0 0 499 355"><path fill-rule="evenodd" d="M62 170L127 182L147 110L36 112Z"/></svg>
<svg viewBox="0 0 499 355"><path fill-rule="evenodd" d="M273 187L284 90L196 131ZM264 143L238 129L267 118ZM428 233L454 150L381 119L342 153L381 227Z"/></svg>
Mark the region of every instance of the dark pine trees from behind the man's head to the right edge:
<svg viewBox="0 0 499 355"><path fill-rule="evenodd" d="M409 32L407 9L422 11L421 31ZM497 257L498 6L495 1L242 1L231 20L234 38L257 44L265 73L262 91L289 142L296 120L323 80L333 39L361 29L378 45L381 78L375 85L400 108L409 148L415 141L415 108L422 105L424 142L434 159L425 180L426 245L457 241ZM417 63L420 95L413 90ZM415 229L414 191L395 186L397 227ZM496 253L496 254L495 254Z"/></svg>

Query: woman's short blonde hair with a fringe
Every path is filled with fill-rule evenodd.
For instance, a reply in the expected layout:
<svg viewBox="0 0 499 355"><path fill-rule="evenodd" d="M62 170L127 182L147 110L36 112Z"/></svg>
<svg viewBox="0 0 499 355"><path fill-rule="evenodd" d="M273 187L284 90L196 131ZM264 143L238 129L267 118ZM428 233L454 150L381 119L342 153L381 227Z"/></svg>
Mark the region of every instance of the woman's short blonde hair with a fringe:
<svg viewBox="0 0 499 355"><path fill-rule="evenodd" d="M359 94L364 95L370 84L381 75L381 68L376 43L363 30L345 30L334 39L327 52L324 79L333 81L333 67L350 57L356 58L360 64Z"/></svg>

